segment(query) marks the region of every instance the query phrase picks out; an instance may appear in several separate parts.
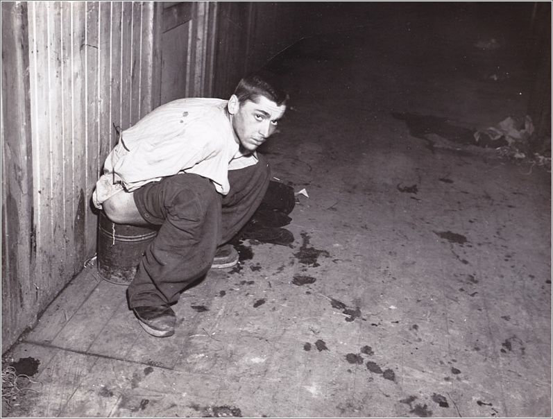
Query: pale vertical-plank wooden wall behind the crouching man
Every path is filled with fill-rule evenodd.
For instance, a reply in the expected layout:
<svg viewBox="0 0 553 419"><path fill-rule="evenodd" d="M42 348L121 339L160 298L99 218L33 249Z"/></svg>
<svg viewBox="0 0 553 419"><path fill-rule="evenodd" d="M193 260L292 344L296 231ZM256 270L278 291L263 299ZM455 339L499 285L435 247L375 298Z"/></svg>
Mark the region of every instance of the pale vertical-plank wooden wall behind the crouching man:
<svg viewBox="0 0 553 419"><path fill-rule="evenodd" d="M2 2L3 351L96 253L90 198L114 127L155 105L153 10Z"/></svg>

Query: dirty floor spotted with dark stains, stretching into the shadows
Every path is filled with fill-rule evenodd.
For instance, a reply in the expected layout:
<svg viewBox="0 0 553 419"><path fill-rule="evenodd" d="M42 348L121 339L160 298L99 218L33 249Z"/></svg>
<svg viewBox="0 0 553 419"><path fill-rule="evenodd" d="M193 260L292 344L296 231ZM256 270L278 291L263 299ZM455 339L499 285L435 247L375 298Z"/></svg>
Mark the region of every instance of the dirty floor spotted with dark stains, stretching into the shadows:
<svg viewBox="0 0 553 419"><path fill-rule="evenodd" d="M264 153L309 196L295 241L243 241L167 339L85 268L8 355L37 393L3 414L551 417L550 173L461 141L525 116L524 40L465 7L273 62L293 100Z"/></svg>

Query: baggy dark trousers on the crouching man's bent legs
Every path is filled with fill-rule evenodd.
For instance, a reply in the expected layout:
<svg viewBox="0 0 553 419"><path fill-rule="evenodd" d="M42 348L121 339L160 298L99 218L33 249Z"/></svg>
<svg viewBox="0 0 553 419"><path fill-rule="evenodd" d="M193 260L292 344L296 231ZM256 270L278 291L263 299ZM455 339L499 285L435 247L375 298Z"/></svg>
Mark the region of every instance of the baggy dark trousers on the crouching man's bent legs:
<svg viewBox="0 0 553 419"><path fill-rule="evenodd" d="M230 192L180 173L137 189L135 203L149 223L161 225L128 286L130 308L171 304L210 270L217 246L230 241L260 205L271 178L260 153L253 166L228 172Z"/></svg>

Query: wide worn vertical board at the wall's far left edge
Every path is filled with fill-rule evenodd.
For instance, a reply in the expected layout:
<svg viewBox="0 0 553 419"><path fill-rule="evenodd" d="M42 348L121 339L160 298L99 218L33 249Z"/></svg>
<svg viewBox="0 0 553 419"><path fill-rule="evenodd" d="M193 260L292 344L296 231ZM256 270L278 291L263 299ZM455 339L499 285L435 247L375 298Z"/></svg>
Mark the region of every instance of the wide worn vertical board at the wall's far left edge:
<svg viewBox="0 0 553 419"><path fill-rule="evenodd" d="M26 8L2 2L1 14L2 341L12 343L22 332L17 316L30 312L36 298L36 248Z"/></svg>

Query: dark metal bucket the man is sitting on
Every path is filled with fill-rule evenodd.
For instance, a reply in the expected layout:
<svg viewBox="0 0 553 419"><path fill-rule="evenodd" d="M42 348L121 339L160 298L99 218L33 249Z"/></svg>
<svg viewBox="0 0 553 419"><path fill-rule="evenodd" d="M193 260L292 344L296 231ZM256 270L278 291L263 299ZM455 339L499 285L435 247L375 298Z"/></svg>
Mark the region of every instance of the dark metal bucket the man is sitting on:
<svg viewBox="0 0 553 419"><path fill-rule="evenodd" d="M156 234L155 228L112 223L101 212L96 252L100 275L117 284L130 284L146 247Z"/></svg>

